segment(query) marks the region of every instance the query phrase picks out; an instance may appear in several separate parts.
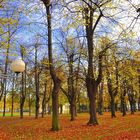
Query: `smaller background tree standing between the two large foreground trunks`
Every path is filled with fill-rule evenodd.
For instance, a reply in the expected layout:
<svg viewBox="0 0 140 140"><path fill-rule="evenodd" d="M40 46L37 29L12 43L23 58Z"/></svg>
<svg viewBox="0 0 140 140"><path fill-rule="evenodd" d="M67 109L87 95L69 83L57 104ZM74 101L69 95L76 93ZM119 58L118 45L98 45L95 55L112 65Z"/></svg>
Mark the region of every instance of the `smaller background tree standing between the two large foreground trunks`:
<svg viewBox="0 0 140 140"><path fill-rule="evenodd" d="M68 32L68 31L67 31ZM80 39L76 40L71 37L67 37L64 32L62 32L62 38L64 42L60 42L61 47L66 55L67 69L64 70L66 73L66 83L65 88L61 87L61 90L66 95L70 104L70 114L71 121L75 120L76 117L76 103L78 101L79 91L79 73L80 73L80 61L82 53L82 45Z"/></svg>

